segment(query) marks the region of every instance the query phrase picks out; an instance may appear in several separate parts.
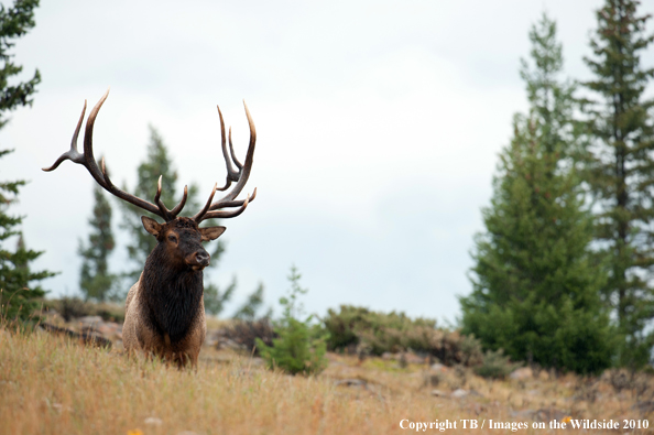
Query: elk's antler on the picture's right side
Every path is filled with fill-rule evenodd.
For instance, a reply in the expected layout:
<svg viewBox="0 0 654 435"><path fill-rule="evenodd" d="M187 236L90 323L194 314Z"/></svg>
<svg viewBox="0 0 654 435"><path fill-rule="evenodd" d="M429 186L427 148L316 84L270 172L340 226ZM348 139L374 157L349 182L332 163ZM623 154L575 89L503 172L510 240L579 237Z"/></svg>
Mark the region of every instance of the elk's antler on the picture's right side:
<svg viewBox="0 0 654 435"><path fill-rule="evenodd" d="M241 164L233 152L233 145L231 143L231 127L229 128L229 154L227 153L227 144L225 140L225 121L222 120L222 113L220 112L220 108L218 107L218 116L220 117L220 133L222 138L222 156L225 157L225 164L227 166L227 180L225 182L225 186L218 188L218 184L214 186L211 194L209 195L209 200L203 207L197 215L193 217L193 219L199 224L205 219L211 218L231 218L239 216L248 204L254 200L257 197L257 188L252 192L252 196L247 195L246 199L236 200L236 197L241 193L248 178L250 177L250 171L252 171L252 162L254 161L254 144L257 143L257 130L254 129L254 121L252 121L252 117L250 116L250 111L248 110L248 105L243 101L243 106L246 107L246 116L248 117L248 124L250 126L250 144L248 145L248 153L246 154L246 162ZM232 166L233 164L238 167L238 171L235 171ZM232 191L225 195L222 198L217 200L216 203L211 203L214 200L214 195L216 195L216 191L227 191L231 183L235 182L236 185L233 186ZM233 208L239 207L236 210L220 210L221 208Z"/></svg>

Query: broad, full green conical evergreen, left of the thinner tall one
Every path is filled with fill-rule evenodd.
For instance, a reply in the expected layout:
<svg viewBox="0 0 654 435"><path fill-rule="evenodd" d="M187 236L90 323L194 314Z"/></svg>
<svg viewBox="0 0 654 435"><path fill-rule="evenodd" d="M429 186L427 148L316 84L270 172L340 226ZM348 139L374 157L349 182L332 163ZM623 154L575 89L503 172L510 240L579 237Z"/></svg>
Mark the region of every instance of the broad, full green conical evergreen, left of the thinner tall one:
<svg viewBox="0 0 654 435"><path fill-rule="evenodd" d="M563 68L556 24L532 28L533 69L522 62L528 115L500 155L486 233L476 237L473 291L461 297L464 333L486 348L543 367L598 372L611 363L612 330L593 268L590 215L584 210L571 155L573 84Z"/></svg>

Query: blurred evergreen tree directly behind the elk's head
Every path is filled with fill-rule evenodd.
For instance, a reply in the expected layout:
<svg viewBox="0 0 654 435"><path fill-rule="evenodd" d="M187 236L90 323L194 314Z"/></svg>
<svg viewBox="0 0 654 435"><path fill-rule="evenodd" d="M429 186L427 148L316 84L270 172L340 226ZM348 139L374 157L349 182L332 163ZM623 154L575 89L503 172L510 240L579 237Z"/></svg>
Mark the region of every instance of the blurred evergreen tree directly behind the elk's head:
<svg viewBox="0 0 654 435"><path fill-rule="evenodd" d="M168 156L168 150L164 144L163 138L159 134L156 129L150 127L150 144L148 145L148 157L139 165L138 181L134 189L134 195L140 198L154 198L156 193L157 182L160 175L162 176L162 194L161 198L168 208L174 207L181 199L182 195L177 194L177 171L173 167L173 162ZM127 192L127 187L123 187ZM184 210L190 214L197 213L200 208L200 203L197 199L198 188L195 184L188 186L188 198ZM152 200L152 199L151 199ZM129 233L130 242L128 243L128 255L132 260L133 268L131 271L124 273L130 279L129 285L139 280L143 271L145 259L156 246L156 239L145 232L141 216L146 215L155 220L161 220L159 216L152 215L143 209L135 207L126 202L120 202L123 210L123 221L121 228ZM204 202L203 202L204 205ZM182 211L184 214L184 211ZM216 226L216 219L204 221L204 226ZM220 240L211 243L214 250L209 251L211 262L209 270L218 265L220 255L225 251L225 246ZM220 291L215 284L206 284L205 289L205 306L207 312L218 314L222 309L225 303L231 297L233 287L228 287Z"/></svg>

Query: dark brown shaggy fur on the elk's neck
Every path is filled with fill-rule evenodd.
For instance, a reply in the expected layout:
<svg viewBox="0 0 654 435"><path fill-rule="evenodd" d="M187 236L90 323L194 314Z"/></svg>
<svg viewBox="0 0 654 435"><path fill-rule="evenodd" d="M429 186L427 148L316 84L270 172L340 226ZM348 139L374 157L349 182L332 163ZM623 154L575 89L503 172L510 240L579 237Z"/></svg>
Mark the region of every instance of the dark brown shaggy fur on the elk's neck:
<svg viewBox="0 0 654 435"><path fill-rule="evenodd" d="M203 297L203 272L190 268L166 267L161 244L150 253L141 279L140 298L145 308L145 322L171 342L183 339L199 314Z"/></svg>

